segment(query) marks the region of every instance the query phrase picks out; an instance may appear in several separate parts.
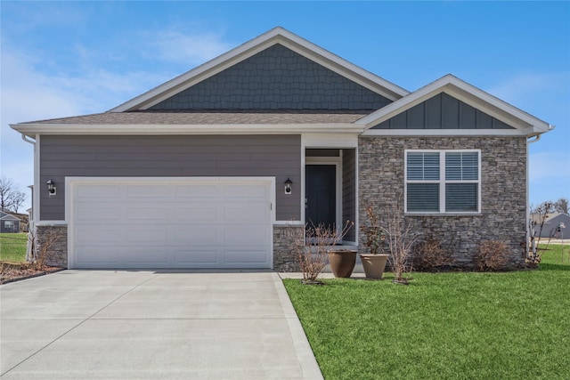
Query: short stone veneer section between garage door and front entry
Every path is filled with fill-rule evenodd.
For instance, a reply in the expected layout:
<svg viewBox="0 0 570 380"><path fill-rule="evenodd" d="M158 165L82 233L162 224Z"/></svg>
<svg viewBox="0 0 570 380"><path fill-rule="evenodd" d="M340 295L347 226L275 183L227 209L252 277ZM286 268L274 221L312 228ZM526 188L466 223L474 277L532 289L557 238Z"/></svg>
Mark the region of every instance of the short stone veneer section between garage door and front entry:
<svg viewBox="0 0 570 380"><path fill-rule="evenodd" d="M273 270L300 271L295 240L305 233L303 226L273 226Z"/></svg>

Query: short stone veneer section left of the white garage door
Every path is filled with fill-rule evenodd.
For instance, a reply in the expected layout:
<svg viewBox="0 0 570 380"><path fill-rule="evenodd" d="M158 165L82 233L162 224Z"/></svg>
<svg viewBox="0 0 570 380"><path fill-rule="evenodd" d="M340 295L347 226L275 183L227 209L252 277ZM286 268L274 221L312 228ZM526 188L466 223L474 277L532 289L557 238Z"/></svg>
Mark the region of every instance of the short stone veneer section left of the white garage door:
<svg viewBox="0 0 570 380"><path fill-rule="evenodd" d="M45 252L45 264L68 268L68 227L66 225L38 225L36 227L36 252L40 254L50 240Z"/></svg>

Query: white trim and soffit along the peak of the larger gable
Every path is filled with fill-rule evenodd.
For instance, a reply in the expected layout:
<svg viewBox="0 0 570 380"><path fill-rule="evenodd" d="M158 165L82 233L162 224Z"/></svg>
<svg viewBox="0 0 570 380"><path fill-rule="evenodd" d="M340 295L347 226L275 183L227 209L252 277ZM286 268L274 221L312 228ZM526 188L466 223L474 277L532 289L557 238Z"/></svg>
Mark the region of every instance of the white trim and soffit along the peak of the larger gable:
<svg viewBox="0 0 570 380"><path fill-rule="evenodd" d="M135 109L148 109L151 106L164 101L167 98L179 93L186 88L213 77L217 73L228 69L240 61L247 60L256 53L262 52L273 44L282 44L292 51L299 53L306 58L317 62L327 69L331 69L337 74L346 77L362 85L369 90L385 96L391 101L400 99L409 92L402 87L372 74L358 66L330 53L321 47L313 44L289 30L281 27L273 28L261 36L248 41L245 44L226 52L215 59L208 61L195 69L175 77L154 89L142 93L136 98L126 101L111 112L123 112Z"/></svg>

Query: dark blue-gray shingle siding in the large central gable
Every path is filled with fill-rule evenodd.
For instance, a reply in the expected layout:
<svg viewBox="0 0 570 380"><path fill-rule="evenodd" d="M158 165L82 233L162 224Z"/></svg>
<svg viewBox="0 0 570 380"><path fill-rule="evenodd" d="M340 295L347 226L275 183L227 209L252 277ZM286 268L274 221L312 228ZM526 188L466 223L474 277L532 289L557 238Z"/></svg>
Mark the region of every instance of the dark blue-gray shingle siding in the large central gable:
<svg viewBox="0 0 570 380"><path fill-rule="evenodd" d="M387 98L281 44L151 109L380 109Z"/></svg>

